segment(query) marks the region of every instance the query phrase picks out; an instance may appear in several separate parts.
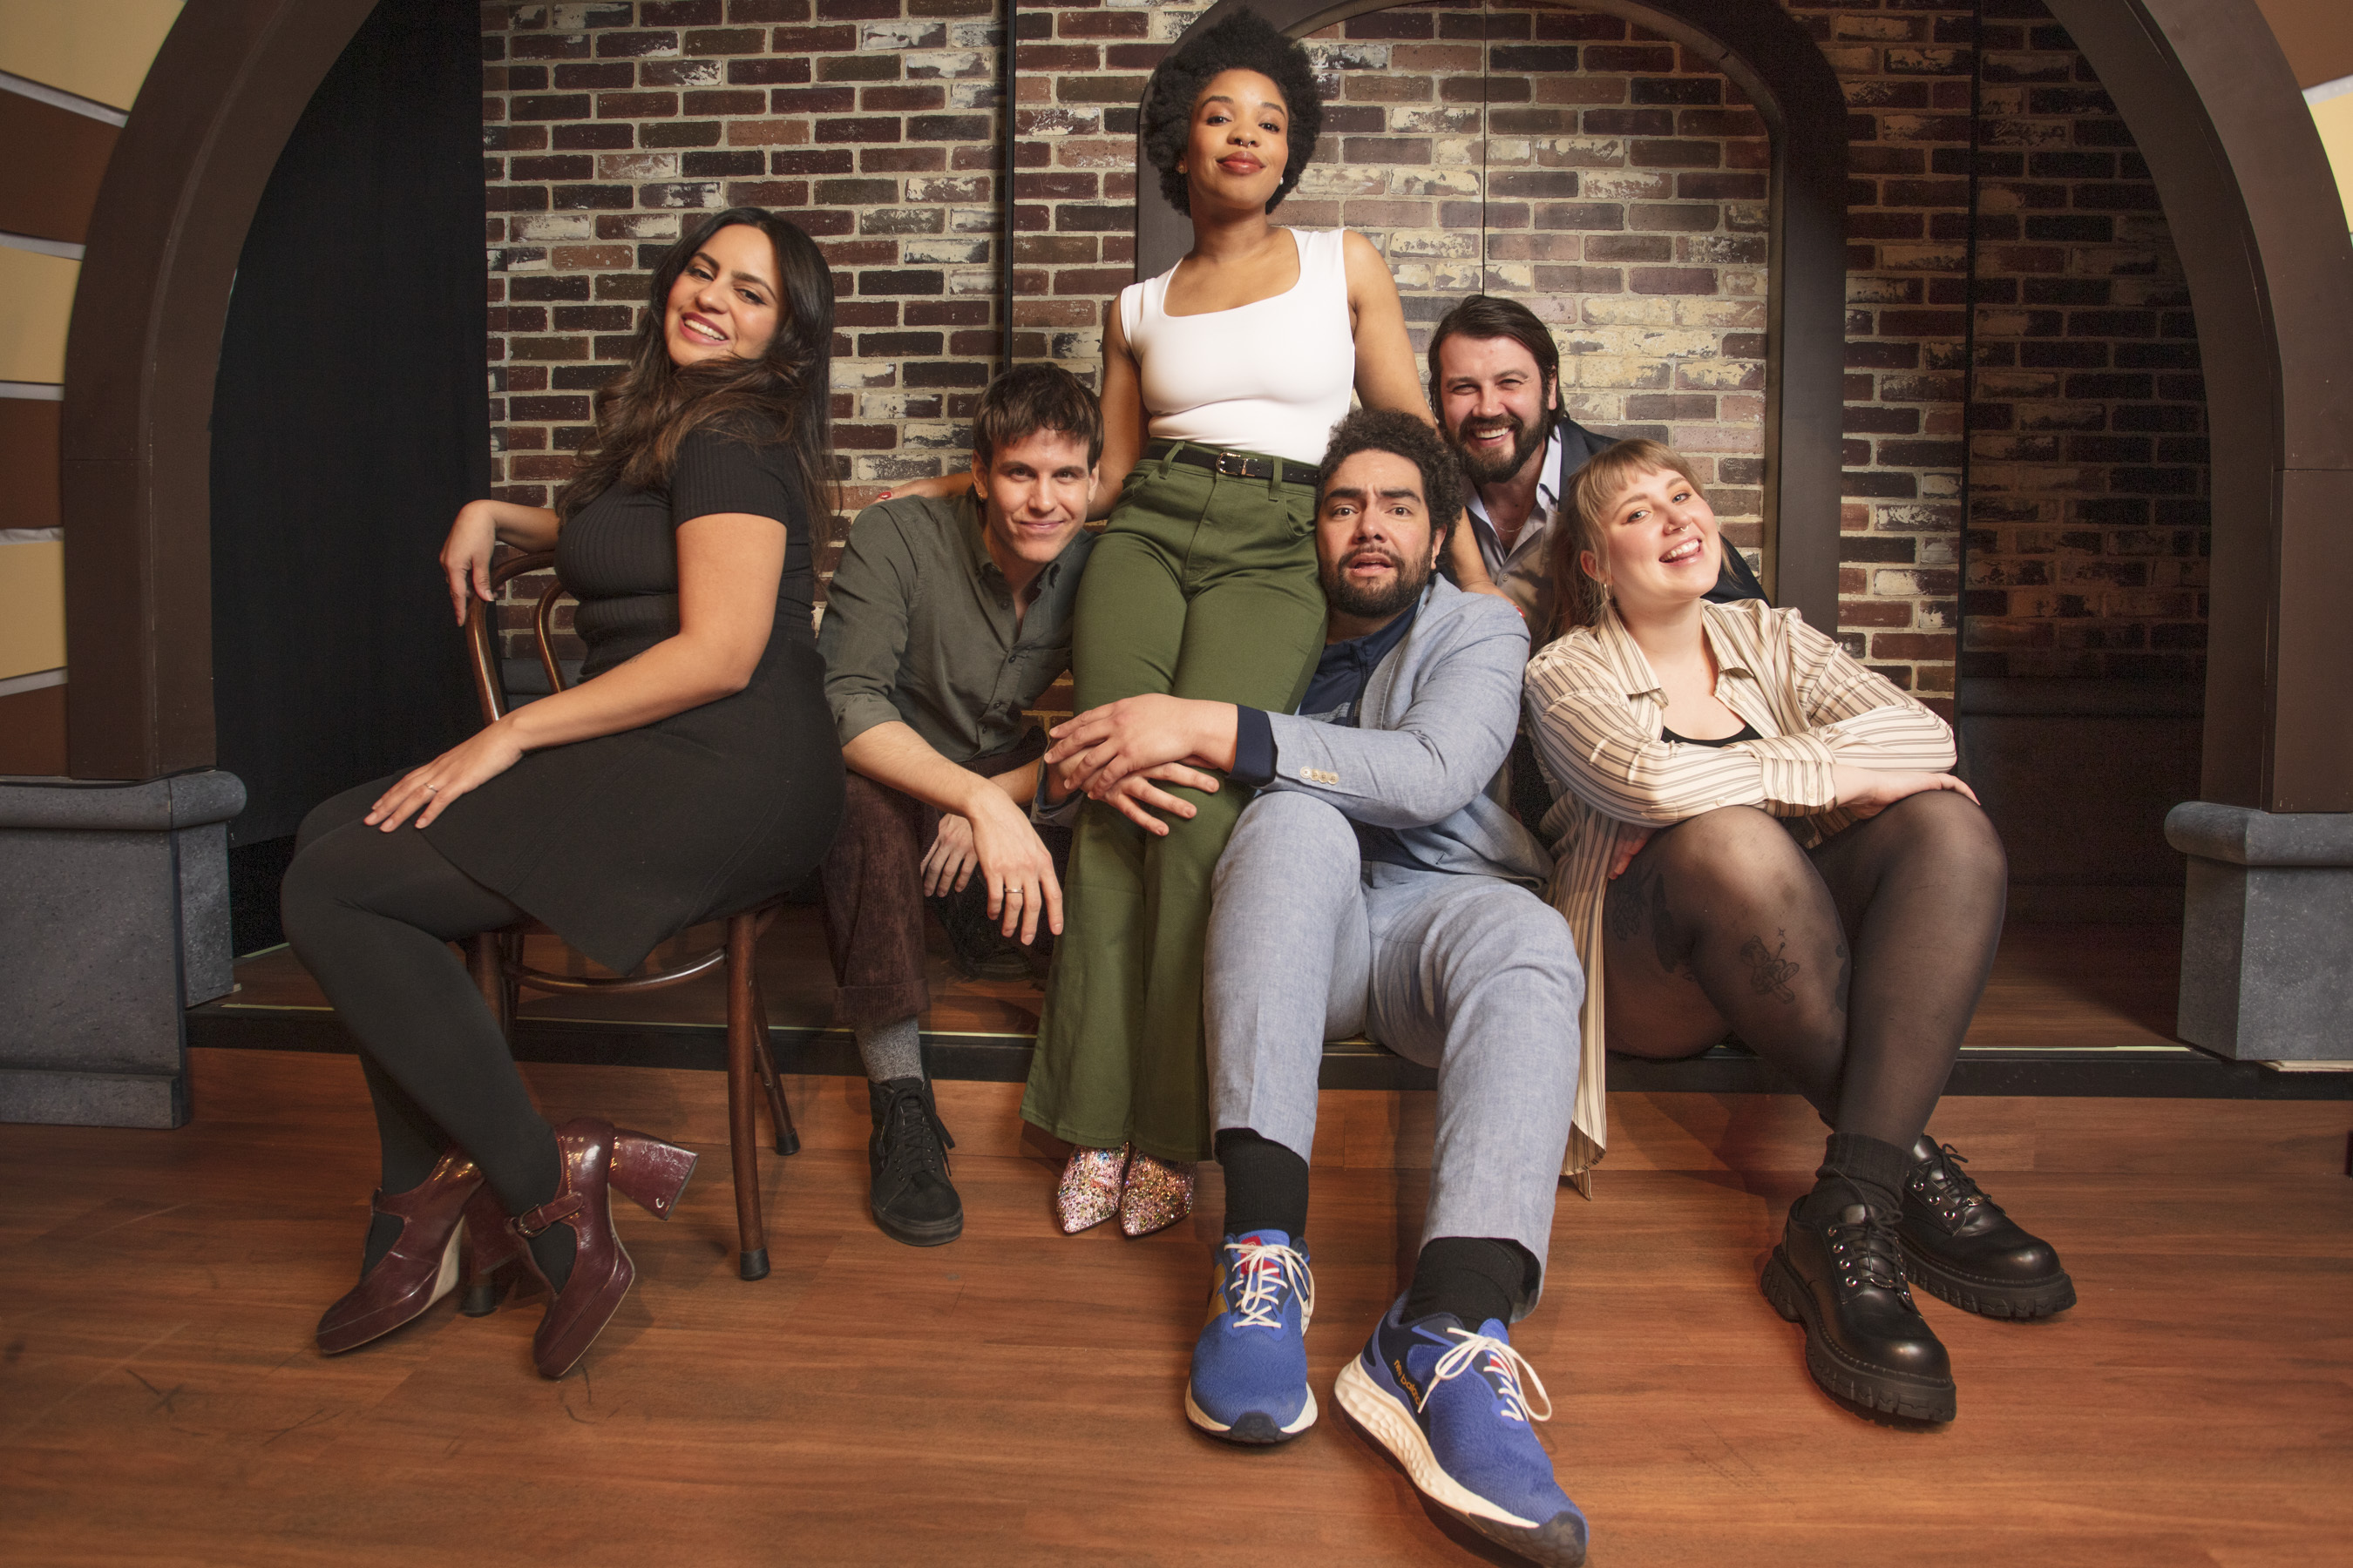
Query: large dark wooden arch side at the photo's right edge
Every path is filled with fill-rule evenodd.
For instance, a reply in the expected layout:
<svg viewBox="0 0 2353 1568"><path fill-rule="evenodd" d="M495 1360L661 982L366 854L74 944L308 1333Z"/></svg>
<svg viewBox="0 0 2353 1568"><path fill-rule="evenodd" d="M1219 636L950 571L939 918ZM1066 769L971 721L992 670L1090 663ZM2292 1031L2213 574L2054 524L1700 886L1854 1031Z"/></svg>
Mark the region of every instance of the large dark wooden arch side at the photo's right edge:
<svg viewBox="0 0 2353 1568"><path fill-rule="evenodd" d="M2353 242L2254 0L2045 0L2172 214L2214 440L2200 795L2353 811Z"/></svg>

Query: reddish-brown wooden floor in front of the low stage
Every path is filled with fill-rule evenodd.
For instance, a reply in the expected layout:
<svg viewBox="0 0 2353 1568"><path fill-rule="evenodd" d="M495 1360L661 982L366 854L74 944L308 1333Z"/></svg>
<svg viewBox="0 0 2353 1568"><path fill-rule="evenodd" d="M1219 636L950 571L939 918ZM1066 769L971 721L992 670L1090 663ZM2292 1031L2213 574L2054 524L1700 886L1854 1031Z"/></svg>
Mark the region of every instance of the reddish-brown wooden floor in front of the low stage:
<svg viewBox="0 0 2353 1568"><path fill-rule="evenodd" d="M1471 1563L1329 1385L1412 1258L1428 1095L1329 1093L1318 1145L1325 1420L1271 1453L1186 1427L1219 1211L1064 1239L1059 1150L1014 1086L944 1084L969 1225L864 1215L861 1084L793 1079L765 1159L776 1272L741 1284L722 1079L532 1067L551 1114L706 1147L581 1371L536 1302L445 1302L327 1361L372 1128L351 1058L200 1051L172 1133L0 1126L5 1563ZM1539 1427L1633 1563L2353 1561L2353 1180L2341 1103L1953 1100L1939 1133L2064 1251L2082 1305L1927 1300L1960 1420L1868 1425L1755 1293L1819 1131L1772 1095L1614 1095L1595 1201L1562 1194L1515 1333ZM1485 1561L1501 1561L1485 1556Z"/></svg>

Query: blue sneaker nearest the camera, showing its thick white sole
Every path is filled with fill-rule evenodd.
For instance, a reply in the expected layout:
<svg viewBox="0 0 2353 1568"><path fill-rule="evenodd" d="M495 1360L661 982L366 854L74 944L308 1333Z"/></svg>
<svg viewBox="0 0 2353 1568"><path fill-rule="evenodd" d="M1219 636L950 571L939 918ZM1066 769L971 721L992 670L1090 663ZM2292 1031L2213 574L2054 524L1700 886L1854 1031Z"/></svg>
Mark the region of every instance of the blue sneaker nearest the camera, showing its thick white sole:
<svg viewBox="0 0 2353 1568"><path fill-rule="evenodd" d="M1449 1312L1412 1324L1400 1312L1402 1295L1365 1354L1341 1368L1339 1408L1426 1497L1487 1540L1546 1568L1584 1563L1586 1516L1529 1425L1553 1418L1537 1368L1494 1319L1471 1333Z"/></svg>

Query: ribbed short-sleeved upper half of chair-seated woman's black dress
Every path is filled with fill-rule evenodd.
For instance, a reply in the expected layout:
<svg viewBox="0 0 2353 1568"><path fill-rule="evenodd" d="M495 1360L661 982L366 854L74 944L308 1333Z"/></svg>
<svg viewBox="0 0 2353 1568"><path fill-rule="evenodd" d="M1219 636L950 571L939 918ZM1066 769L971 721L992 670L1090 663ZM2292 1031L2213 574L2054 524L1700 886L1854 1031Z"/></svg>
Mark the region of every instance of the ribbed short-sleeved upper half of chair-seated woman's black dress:
<svg viewBox="0 0 2353 1568"><path fill-rule="evenodd" d="M776 632L814 646L809 529L784 447L696 430L678 444L668 489L612 487L555 536L555 576L579 599L574 630L588 644L581 679L678 635L678 541L671 529L713 512L751 512L786 527Z"/></svg>

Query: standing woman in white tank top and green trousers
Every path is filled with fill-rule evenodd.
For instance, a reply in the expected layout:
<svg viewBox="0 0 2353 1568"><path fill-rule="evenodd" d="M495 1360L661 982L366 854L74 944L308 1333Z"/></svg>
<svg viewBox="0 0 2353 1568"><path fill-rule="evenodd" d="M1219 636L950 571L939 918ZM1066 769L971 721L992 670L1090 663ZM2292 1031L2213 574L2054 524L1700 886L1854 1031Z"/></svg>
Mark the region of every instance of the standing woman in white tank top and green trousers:
<svg viewBox="0 0 2353 1568"><path fill-rule="evenodd" d="M1080 712L1151 693L1289 712L1322 651L1325 440L1351 393L1428 418L1379 252L1268 221L1320 122L1306 52L1247 9L1188 35L1146 92L1144 150L1193 249L1104 322L1094 515L1111 524L1078 597ZM1075 1145L1056 1199L1071 1232L1113 1213L1129 1234L1181 1220L1193 1161L1212 1154L1202 943L1245 792L1188 769L1160 785L1122 780L1078 816L1021 1103Z"/></svg>

